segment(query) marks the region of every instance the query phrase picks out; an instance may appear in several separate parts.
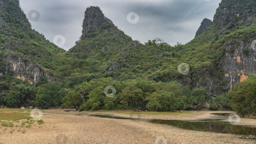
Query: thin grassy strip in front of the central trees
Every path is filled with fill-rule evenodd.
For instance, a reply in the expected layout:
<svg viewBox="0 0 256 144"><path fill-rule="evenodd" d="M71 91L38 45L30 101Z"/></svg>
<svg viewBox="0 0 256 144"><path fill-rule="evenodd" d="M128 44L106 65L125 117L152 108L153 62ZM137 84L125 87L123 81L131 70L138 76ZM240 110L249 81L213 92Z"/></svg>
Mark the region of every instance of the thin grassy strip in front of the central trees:
<svg viewBox="0 0 256 144"><path fill-rule="evenodd" d="M127 110L96 110L100 112L115 112L115 113L127 113L127 114L146 114L146 115L173 115L173 116L178 116L180 114L189 114L189 113L194 113L192 111L170 111L170 112L154 112L154 111L143 111L143 112L138 112L138 111L127 111Z"/></svg>

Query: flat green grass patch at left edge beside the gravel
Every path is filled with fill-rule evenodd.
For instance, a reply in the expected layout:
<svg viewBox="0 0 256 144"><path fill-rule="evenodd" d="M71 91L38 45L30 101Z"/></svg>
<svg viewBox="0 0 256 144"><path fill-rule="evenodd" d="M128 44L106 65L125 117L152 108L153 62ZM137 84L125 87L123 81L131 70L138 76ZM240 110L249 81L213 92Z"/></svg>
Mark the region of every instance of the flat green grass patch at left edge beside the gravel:
<svg viewBox="0 0 256 144"><path fill-rule="evenodd" d="M0 120L16 121L20 119L30 119L29 112L0 112Z"/></svg>

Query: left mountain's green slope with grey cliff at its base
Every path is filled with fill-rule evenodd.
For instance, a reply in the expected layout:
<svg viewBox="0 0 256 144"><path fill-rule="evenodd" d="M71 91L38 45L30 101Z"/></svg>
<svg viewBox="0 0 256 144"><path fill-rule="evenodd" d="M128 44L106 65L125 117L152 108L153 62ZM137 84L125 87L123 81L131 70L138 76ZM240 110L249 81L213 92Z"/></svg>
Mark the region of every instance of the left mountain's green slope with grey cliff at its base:
<svg viewBox="0 0 256 144"><path fill-rule="evenodd" d="M13 70L16 78L38 82L46 76L56 80L52 70L58 53L65 50L31 29L17 0L0 0L0 74Z"/></svg>

